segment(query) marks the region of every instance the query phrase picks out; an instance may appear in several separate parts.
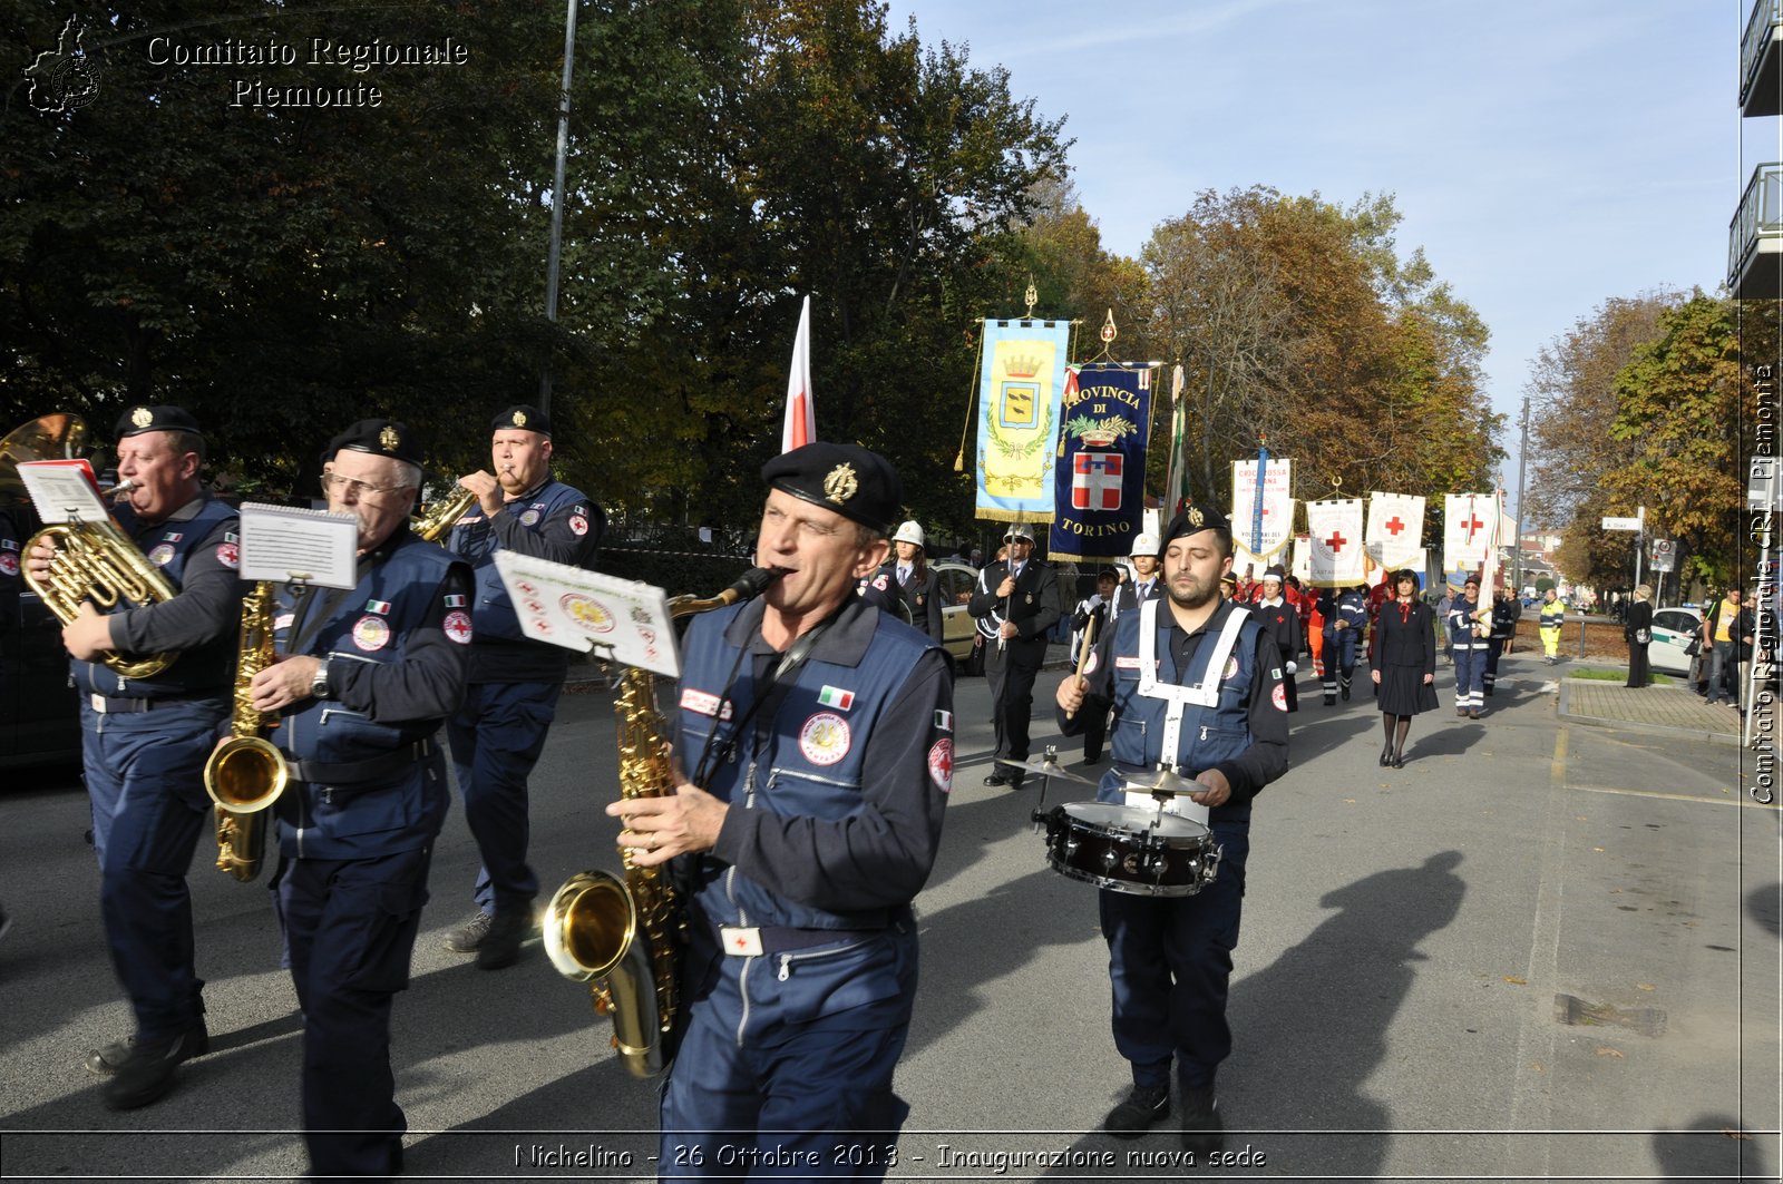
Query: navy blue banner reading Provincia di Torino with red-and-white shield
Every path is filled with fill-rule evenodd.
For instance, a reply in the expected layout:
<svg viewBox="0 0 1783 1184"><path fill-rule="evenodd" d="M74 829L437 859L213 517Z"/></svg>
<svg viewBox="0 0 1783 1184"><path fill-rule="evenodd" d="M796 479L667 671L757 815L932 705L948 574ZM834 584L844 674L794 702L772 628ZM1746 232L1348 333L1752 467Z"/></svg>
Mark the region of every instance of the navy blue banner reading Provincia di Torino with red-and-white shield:
<svg viewBox="0 0 1783 1184"><path fill-rule="evenodd" d="M1066 378L1048 558L1113 560L1132 551L1145 515L1155 371L1146 362L1089 362Z"/></svg>

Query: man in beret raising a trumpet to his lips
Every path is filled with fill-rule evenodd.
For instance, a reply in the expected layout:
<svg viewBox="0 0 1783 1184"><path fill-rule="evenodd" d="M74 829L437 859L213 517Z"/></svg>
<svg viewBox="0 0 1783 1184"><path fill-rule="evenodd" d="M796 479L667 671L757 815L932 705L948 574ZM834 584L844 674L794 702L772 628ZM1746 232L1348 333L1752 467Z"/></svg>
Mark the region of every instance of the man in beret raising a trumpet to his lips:
<svg viewBox="0 0 1783 1184"><path fill-rule="evenodd" d="M478 505L458 519L448 547L476 574L476 642L464 704L451 717L453 767L483 867L476 911L446 949L476 954L483 970L512 966L533 931L538 877L526 863L526 777L546 747L569 651L530 640L496 571L497 551L594 567L606 528L601 506L551 476L551 421L537 407L510 407L490 423L490 473L458 483Z"/></svg>

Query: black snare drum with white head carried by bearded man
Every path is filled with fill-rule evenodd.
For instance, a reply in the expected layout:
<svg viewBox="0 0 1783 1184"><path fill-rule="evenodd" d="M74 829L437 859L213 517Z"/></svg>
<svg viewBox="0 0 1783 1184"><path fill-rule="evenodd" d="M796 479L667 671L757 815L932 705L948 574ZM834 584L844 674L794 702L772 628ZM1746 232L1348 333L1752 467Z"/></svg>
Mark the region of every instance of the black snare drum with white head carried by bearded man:
<svg viewBox="0 0 1783 1184"><path fill-rule="evenodd" d="M1045 815L1047 863L1059 876L1139 897L1191 897L1214 883L1220 843L1200 822L1109 802Z"/></svg>

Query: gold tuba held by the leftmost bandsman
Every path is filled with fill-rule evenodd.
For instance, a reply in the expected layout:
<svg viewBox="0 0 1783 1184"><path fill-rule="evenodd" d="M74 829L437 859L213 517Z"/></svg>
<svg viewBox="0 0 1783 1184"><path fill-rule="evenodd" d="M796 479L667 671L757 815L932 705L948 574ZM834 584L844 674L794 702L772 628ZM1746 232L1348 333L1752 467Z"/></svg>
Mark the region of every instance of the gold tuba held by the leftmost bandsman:
<svg viewBox="0 0 1783 1184"><path fill-rule="evenodd" d="M18 478L20 462L73 460L80 455L86 437L86 421L64 412L39 415L9 432L0 440L0 492L23 492L23 481ZM128 487L130 481L123 481L102 492L118 496ZM45 606L62 624L71 622L80 613L82 601L93 601L100 608L114 608L119 601L143 606L171 601L177 596L168 578L143 556L111 517L98 522L45 526L25 544L25 553L29 555L37 542L45 540L55 546L50 574L39 581L27 567L25 583L43 597ZM103 662L121 678L153 678L166 670L175 656L160 653L146 658L125 658L118 653L107 653Z"/></svg>

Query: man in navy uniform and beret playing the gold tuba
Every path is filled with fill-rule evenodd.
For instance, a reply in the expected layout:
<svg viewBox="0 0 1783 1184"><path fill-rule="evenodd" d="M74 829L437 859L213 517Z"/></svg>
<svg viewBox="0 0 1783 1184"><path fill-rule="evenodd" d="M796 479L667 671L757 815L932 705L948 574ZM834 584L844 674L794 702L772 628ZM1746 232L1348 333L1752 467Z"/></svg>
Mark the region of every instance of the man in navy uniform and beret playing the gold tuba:
<svg viewBox="0 0 1783 1184"><path fill-rule="evenodd" d="M228 720L241 588L235 512L198 478L198 421L178 407L132 407L116 437L130 492L114 515L178 594L141 606L119 597L105 612L82 601L62 644L80 690L105 943L136 1013L134 1036L91 1052L86 1065L107 1077L105 1106L134 1109L171 1089L182 1061L209 1050L185 872L209 833L200 772ZM37 542L25 563L41 587L52 571L66 574L70 556ZM175 658L143 678L103 665L107 654L157 653Z"/></svg>

